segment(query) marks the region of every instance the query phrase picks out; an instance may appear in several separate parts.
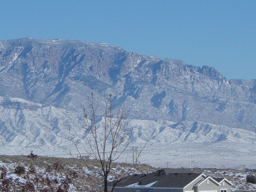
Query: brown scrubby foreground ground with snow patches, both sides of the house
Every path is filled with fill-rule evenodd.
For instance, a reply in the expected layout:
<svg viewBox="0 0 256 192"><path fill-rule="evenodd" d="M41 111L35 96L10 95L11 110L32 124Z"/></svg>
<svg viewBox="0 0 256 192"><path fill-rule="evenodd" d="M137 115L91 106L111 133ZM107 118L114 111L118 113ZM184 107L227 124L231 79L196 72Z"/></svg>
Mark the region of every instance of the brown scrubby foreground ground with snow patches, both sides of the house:
<svg viewBox="0 0 256 192"><path fill-rule="evenodd" d="M12 156L0 156L0 166L5 166L8 169L7 176L12 177L12 178L22 178L21 176L17 176L13 170L17 166L17 164L22 165L28 170L28 166L30 160L26 157L21 157L16 156L15 158L12 158ZM95 191L97 188L97 185L99 185L102 182L102 179L99 175L97 175L95 172L92 170L88 169L84 165L80 165L79 163L77 164L76 161L73 159L65 159L65 158L48 158L48 157L40 157L39 162L36 165L36 170L38 172L44 172L45 166L47 164L51 164L52 161L62 161L61 164L65 165L66 169L76 171L78 173L78 178L76 181L71 186L71 191L77 192L77 191ZM94 161L91 162L92 169L98 170L99 166L95 164ZM129 171L130 174L140 174L140 173L148 173L148 172L153 172L157 170L157 168L152 168L149 166L144 166L144 165L136 165L134 168L129 170L127 166L124 164L113 164L112 167L112 172L110 174L109 179L115 177L116 175L120 175L123 172ZM175 171L175 170L173 170ZM177 170L179 172L180 170ZM182 170L182 172L203 172L206 175L212 176L214 178L226 178L229 181L233 183L233 186L231 190L233 192L241 192L241 191L256 191L256 185L247 183L246 182L246 176L253 174L255 175L255 172L252 172L250 170L243 170L243 169L237 169L237 170L231 170L229 168L225 169L187 169L187 170ZM59 178L63 178L65 175L64 172L62 172L59 175ZM21 179L22 181L22 179Z"/></svg>

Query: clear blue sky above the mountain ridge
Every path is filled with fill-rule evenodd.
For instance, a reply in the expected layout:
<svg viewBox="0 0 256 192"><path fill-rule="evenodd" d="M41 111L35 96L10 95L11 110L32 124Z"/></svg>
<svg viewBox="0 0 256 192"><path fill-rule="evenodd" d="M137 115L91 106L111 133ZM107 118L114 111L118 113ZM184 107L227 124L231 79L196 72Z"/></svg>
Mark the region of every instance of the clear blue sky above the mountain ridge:
<svg viewBox="0 0 256 192"><path fill-rule="evenodd" d="M78 39L256 79L256 1L0 1L0 40Z"/></svg>

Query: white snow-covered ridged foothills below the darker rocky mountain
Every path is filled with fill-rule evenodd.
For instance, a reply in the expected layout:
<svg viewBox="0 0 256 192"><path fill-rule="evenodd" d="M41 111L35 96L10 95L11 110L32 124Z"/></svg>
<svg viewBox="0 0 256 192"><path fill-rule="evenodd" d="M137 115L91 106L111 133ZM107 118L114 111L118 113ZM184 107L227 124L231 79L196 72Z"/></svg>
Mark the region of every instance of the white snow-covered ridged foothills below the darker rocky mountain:
<svg viewBox="0 0 256 192"><path fill-rule="evenodd" d="M0 97L1 127L3 143L21 147L50 144L62 147L72 135L84 137L83 120L72 111L52 106L43 106L20 98ZM103 120L98 123L101 128ZM127 119L128 127L133 127L130 137L133 143L163 145L180 142L217 142L255 141L255 132L239 128L207 124L203 122L182 121L179 123L166 120ZM69 143L71 144L71 143Z"/></svg>

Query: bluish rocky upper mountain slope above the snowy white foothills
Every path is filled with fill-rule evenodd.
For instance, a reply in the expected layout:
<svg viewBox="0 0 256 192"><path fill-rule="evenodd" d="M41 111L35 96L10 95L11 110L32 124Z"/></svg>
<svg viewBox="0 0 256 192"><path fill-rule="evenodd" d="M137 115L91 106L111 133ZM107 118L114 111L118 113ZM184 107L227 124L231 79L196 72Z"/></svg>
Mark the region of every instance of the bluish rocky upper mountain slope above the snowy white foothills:
<svg viewBox="0 0 256 192"><path fill-rule="evenodd" d="M90 92L132 106L131 118L202 121L254 130L255 81L117 46L22 38L0 42L2 97L79 109Z"/></svg>

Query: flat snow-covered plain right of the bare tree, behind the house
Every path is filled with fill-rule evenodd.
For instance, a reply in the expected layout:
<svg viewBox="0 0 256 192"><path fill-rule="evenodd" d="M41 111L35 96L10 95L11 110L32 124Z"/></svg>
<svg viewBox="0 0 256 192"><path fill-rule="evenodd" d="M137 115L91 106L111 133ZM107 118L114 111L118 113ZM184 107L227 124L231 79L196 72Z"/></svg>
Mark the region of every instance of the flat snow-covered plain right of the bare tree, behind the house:
<svg viewBox="0 0 256 192"><path fill-rule="evenodd" d="M141 163L154 167L248 168L256 169L256 148L252 143L174 143L147 146ZM123 157L124 159L124 157ZM131 161L131 160L130 160Z"/></svg>

